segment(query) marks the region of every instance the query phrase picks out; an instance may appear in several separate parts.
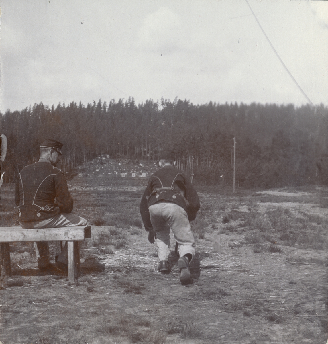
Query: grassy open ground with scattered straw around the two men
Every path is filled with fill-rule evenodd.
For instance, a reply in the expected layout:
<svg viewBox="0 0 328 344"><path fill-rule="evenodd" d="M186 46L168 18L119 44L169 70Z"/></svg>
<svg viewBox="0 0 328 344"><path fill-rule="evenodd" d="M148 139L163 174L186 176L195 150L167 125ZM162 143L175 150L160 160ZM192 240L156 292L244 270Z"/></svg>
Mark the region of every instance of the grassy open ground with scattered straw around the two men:
<svg viewBox="0 0 328 344"><path fill-rule="evenodd" d="M147 180L114 178L118 183L88 182L86 175L68 181L74 212L92 224L82 260L97 258L105 271L73 284L63 276L23 276L22 287L8 287L2 272L2 343L326 343L327 187L233 194L196 186L197 255L193 281L182 286L173 236L171 272L161 275L142 228ZM1 225L14 224L13 187L1 192ZM53 258L58 249L51 244ZM11 250L17 273L36 266L33 245Z"/></svg>

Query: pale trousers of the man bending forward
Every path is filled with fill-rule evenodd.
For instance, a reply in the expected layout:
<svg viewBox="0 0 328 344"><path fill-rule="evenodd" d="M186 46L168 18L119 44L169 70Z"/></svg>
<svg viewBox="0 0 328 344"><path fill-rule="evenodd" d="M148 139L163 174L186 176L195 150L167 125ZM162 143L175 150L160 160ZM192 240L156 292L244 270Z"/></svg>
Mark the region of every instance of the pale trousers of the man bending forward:
<svg viewBox="0 0 328 344"><path fill-rule="evenodd" d="M179 256L189 253L194 257L196 244L185 209L172 202L155 203L148 209L160 261L168 260L170 254L170 229L178 243Z"/></svg>

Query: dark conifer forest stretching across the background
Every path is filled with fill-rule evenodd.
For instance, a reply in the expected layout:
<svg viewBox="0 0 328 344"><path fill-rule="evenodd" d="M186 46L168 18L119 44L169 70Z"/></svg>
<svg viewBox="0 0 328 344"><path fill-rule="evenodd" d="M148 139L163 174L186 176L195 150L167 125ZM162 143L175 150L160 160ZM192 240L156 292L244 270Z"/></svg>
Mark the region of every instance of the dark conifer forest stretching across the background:
<svg viewBox="0 0 328 344"><path fill-rule="evenodd" d="M196 184L232 185L236 137L236 185L284 187L328 184L328 108L320 105L216 104L133 98L101 100L55 108L35 104L0 116L7 136L1 163L5 182L39 158L44 138L64 143L61 169L99 154L111 158L157 160L163 149L176 152L178 166Z"/></svg>

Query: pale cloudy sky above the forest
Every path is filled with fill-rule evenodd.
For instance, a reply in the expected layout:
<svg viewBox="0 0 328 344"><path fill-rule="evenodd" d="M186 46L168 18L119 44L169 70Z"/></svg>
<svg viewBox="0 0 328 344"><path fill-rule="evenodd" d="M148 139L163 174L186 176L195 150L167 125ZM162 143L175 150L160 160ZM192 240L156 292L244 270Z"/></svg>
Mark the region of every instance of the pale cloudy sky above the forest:
<svg viewBox="0 0 328 344"><path fill-rule="evenodd" d="M0 111L134 97L307 104L245 0L0 0ZM328 1L249 0L314 104L328 105Z"/></svg>

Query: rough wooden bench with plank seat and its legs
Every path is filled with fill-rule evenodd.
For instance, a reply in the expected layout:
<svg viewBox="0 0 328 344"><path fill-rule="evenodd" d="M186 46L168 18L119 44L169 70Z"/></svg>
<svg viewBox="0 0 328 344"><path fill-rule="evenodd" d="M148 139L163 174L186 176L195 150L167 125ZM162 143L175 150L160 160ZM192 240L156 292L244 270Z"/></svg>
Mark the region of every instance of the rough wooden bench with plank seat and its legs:
<svg viewBox="0 0 328 344"><path fill-rule="evenodd" d="M68 281L80 274L79 241L91 238L91 226L26 229L20 226L0 227L0 245L4 273L11 276L9 243L17 241L67 241Z"/></svg>

